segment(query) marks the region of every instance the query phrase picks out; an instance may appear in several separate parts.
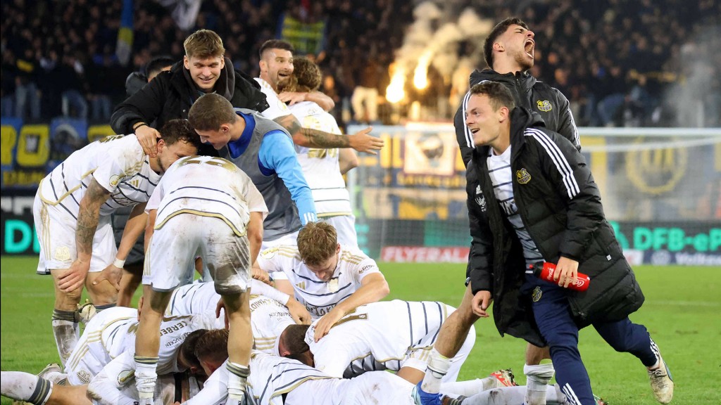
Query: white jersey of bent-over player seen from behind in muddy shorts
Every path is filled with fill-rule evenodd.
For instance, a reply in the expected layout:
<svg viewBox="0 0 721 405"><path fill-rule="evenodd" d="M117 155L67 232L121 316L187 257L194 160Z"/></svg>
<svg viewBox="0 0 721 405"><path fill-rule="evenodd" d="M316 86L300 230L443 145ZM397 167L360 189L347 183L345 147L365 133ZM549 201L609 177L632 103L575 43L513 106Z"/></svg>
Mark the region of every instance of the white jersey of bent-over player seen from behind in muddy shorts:
<svg viewBox="0 0 721 405"><path fill-rule="evenodd" d="M155 228L175 215L192 213L223 220L244 236L251 212L267 215L262 195L247 174L226 159L188 156L169 167L146 210L158 210Z"/></svg>

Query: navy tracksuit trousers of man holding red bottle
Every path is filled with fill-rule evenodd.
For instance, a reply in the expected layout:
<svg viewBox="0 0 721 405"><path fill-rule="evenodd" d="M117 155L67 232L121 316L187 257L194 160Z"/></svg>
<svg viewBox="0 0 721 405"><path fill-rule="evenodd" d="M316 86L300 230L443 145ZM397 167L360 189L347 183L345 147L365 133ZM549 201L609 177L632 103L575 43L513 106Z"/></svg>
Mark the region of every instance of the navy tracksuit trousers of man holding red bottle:
<svg viewBox="0 0 721 405"><path fill-rule="evenodd" d="M573 321L567 289L527 275L522 290L534 294L534 318L549 345L556 382L568 403L595 405L590 379L578 352L579 328ZM629 352L647 367L657 361L658 349L645 326L633 324L626 317L621 321L597 322L593 327L617 352Z"/></svg>

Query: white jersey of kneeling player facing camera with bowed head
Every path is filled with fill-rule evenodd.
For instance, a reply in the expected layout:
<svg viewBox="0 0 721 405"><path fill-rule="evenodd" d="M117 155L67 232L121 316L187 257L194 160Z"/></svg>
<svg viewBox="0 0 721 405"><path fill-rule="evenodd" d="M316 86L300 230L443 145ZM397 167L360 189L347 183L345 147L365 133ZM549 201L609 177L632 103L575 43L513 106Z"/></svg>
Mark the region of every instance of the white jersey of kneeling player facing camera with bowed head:
<svg viewBox="0 0 721 405"><path fill-rule="evenodd" d="M262 270L273 273L273 277L285 277L291 282L296 300L306 306L313 319L324 316L355 293L361 288L364 277L381 272L376 261L361 250L343 245L333 277L328 282L320 280L308 269L294 245L265 249L258 255L257 262Z"/></svg>

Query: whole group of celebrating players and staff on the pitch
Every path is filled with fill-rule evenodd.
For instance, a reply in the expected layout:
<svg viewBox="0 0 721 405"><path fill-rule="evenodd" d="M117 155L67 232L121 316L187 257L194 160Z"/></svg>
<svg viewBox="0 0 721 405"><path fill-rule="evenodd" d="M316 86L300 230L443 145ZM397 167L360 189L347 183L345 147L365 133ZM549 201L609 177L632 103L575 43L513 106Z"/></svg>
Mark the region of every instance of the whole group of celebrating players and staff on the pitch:
<svg viewBox="0 0 721 405"><path fill-rule="evenodd" d="M214 32L184 45L182 62L149 71L116 107L113 129L131 135L91 143L41 182L37 272L55 281L64 369L3 372L3 395L32 404L600 404L577 347L578 329L593 325L639 357L656 399L671 401L658 347L628 319L643 296L603 218L567 99L526 73L535 42L523 22L506 19L487 38L491 68L471 76L456 115L473 236L457 310L379 302L389 285L358 249L342 174L358 164L351 148L375 153L383 142L370 128L341 133L312 61L270 40L254 80L231 67ZM116 247L111 214L122 208L131 211ZM128 261L138 238L142 274ZM544 260L558 264L553 282L525 275ZM566 288L579 269L592 277L587 293ZM196 270L203 282L191 282ZM139 283L138 310L115 306L118 291L128 305ZM94 306L78 311L84 287ZM491 301L499 331L529 342L528 386L509 370L456 381Z"/></svg>

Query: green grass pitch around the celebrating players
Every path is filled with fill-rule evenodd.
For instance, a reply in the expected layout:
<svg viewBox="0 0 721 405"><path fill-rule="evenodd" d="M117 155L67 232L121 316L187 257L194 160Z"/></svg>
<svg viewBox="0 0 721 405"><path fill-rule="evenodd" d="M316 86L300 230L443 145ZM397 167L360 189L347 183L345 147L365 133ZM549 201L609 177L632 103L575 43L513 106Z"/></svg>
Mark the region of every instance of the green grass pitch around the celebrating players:
<svg viewBox="0 0 721 405"><path fill-rule="evenodd" d="M381 263L391 294L388 299L443 301L457 306L463 293L459 264ZM0 367L39 372L57 362L50 314L53 284L35 275L37 258L2 257L0 282ZM639 266L637 279L644 306L632 321L645 324L671 368L676 391L671 404L721 404L721 269L713 267ZM476 345L461 379L483 377L512 368L524 383L525 342L500 337L490 319L476 324ZM593 328L580 334L580 351L594 393L611 405L657 404L645 368L632 355L617 353ZM1 404L10 404L2 399Z"/></svg>

